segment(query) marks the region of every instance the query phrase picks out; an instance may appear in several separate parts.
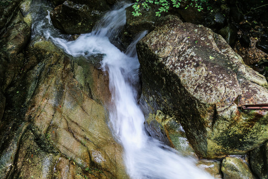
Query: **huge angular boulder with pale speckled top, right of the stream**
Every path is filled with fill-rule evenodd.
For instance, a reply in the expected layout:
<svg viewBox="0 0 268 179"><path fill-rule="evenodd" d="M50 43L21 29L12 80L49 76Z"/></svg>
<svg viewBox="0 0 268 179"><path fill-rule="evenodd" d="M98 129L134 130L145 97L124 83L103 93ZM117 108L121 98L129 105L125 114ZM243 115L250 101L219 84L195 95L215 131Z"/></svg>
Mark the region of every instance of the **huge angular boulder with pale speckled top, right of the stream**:
<svg viewBox="0 0 268 179"><path fill-rule="evenodd" d="M175 116L202 158L245 154L268 140L266 79L244 65L225 40L168 15L137 44L143 96L151 111Z"/></svg>

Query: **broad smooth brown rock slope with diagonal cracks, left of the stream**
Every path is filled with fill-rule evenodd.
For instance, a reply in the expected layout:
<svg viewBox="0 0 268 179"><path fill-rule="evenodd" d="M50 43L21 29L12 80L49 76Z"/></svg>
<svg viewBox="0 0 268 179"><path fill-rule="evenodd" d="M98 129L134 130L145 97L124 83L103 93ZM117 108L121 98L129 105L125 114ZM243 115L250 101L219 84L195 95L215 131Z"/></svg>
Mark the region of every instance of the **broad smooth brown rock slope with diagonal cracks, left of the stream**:
<svg viewBox="0 0 268 179"><path fill-rule="evenodd" d="M110 92L98 83L107 76L42 38L29 45L27 59L26 72L7 89L0 178L127 179L102 105Z"/></svg>

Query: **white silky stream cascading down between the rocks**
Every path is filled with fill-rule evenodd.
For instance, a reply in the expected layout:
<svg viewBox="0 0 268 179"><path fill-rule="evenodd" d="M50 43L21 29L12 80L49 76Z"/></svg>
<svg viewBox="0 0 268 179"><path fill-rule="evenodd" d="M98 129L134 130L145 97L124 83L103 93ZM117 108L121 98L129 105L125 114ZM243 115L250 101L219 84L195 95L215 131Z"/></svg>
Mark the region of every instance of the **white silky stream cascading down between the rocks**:
<svg viewBox="0 0 268 179"><path fill-rule="evenodd" d="M36 1L37 4L40 2ZM144 116L137 103L134 84L139 82L135 44L146 32L137 36L127 53L121 52L110 42L126 23L125 8L128 5L121 4L106 13L91 33L82 34L74 41L67 41L68 35L60 35L59 31L52 30L49 16L43 20L39 17L33 25L33 32L42 34L72 56L104 55L102 69L109 73L113 104L109 109L111 130L124 147L124 160L132 179L212 179L195 166L194 159L183 157L145 132ZM40 10L37 11L40 14ZM48 14L49 10L42 12ZM37 14L35 18L38 18Z"/></svg>

